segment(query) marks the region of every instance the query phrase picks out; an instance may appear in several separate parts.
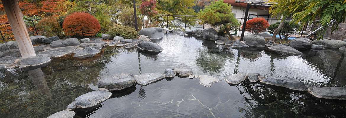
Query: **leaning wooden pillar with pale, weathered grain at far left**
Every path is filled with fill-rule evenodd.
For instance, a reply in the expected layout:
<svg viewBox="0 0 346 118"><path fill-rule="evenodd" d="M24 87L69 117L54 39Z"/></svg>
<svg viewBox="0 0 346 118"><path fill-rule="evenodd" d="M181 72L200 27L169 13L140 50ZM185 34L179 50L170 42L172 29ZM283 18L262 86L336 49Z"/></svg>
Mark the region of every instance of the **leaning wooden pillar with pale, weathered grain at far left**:
<svg viewBox="0 0 346 118"><path fill-rule="evenodd" d="M13 35L15 35L22 58L36 56L33 44L26 29L23 14L19 9L18 0L1 0Z"/></svg>

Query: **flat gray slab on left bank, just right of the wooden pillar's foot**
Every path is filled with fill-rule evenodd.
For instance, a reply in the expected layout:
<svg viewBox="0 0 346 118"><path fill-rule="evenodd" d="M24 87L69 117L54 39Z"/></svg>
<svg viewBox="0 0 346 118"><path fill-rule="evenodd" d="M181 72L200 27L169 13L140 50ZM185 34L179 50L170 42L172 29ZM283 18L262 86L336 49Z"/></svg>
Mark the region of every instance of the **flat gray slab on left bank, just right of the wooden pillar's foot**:
<svg viewBox="0 0 346 118"><path fill-rule="evenodd" d="M37 53L37 55L47 56L47 57L62 57L65 55L71 55L73 50L77 49L77 47L65 47L65 48L57 48L57 49L51 49L46 50L43 52Z"/></svg>

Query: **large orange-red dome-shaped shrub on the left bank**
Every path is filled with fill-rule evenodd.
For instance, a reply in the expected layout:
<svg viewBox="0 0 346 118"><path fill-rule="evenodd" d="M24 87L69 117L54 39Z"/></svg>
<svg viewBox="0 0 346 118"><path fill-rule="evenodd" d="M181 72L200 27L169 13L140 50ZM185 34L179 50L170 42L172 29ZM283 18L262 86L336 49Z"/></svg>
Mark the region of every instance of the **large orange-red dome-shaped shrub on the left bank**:
<svg viewBox="0 0 346 118"><path fill-rule="evenodd" d="M94 36L101 26L89 13L78 12L65 18L63 28L69 36Z"/></svg>

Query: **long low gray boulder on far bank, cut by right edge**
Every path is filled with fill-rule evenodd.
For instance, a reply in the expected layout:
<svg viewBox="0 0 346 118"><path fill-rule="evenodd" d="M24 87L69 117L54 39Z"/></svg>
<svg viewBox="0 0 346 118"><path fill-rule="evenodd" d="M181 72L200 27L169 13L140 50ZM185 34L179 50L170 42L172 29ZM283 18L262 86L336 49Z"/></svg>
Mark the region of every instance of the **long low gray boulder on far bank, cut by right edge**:
<svg viewBox="0 0 346 118"><path fill-rule="evenodd" d="M346 45L346 42L342 40L328 40L328 39L321 39L321 40L314 40L312 41L312 44L314 45L322 45L325 48L335 48L338 49L342 46Z"/></svg>

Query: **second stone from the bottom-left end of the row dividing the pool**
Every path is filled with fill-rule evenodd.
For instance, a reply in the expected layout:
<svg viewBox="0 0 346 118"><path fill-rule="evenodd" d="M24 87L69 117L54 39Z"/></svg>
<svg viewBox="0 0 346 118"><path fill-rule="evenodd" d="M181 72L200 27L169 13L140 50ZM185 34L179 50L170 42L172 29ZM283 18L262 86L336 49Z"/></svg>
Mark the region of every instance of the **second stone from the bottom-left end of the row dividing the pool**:
<svg viewBox="0 0 346 118"><path fill-rule="evenodd" d="M111 96L112 93L106 90L91 91L77 97L72 103L76 105L76 108L91 108L97 106Z"/></svg>

